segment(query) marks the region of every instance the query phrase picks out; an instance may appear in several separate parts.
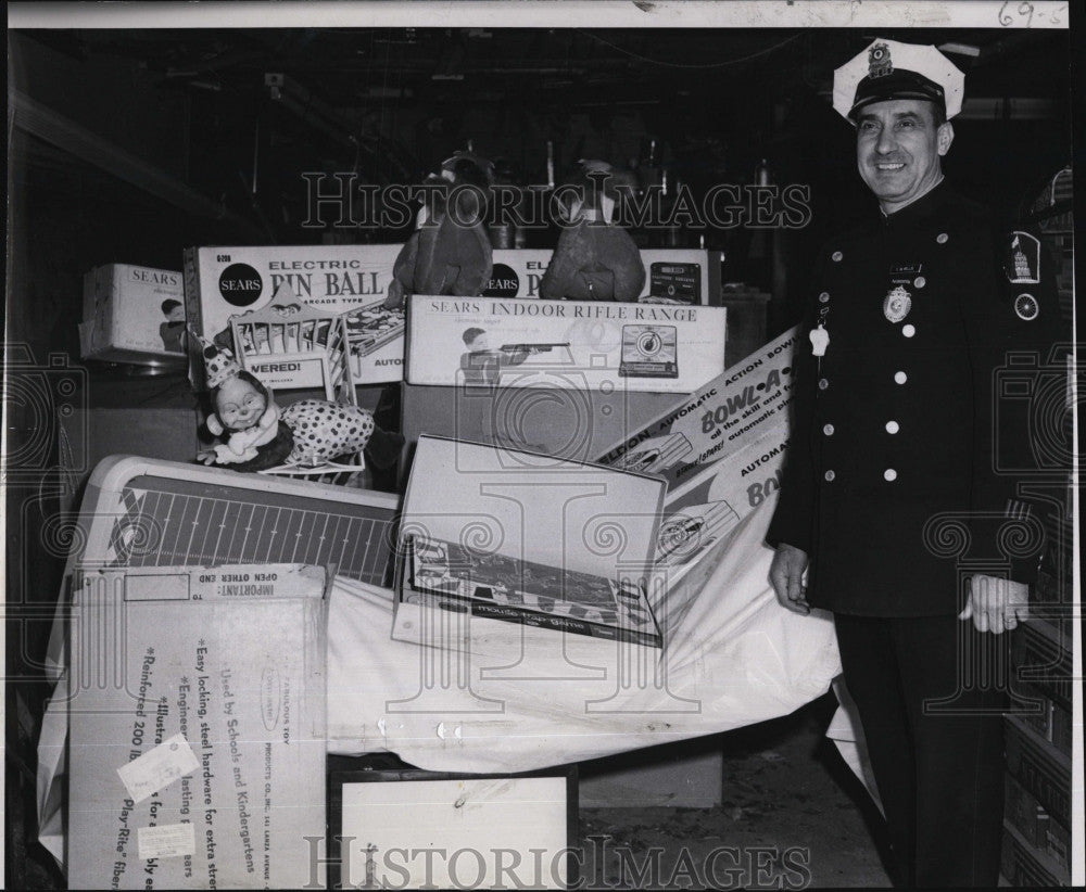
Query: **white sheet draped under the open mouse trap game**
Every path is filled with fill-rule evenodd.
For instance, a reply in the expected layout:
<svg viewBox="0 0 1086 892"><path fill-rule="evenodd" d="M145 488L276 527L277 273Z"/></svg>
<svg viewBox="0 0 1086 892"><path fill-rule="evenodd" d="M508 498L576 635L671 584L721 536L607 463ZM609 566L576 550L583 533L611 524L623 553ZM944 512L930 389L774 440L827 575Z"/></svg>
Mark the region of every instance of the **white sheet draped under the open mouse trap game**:
<svg viewBox="0 0 1086 892"><path fill-rule="evenodd" d="M328 751L388 750L431 770L530 770L793 712L829 689L841 663L830 614L800 616L773 596L772 551L762 539L774 506L767 499L745 518L657 606L670 642L662 677L648 666L620 674L613 643L568 635L564 655L563 636L526 628L521 639L513 624L501 624L501 640L489 643L506 648L512 663L522 641L523 659L505 673L516 677L487 677L488 666L503 662L493 657L460 664L458 676L449 652L389 637L391 592L337 579ZM425 671L434 673L432 684L424 684ZM65 691L62 679L38 748L39 838L61 863Z"/></svg>

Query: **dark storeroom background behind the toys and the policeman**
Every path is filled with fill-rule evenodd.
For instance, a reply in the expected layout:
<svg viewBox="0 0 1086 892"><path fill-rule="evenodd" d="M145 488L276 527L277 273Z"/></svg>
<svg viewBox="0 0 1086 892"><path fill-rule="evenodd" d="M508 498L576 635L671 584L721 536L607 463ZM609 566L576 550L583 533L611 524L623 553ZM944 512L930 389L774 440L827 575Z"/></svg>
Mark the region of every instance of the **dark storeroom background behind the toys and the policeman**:
<svg viewBox="0 0 1086 892"><path fill-rule="evenodd" d="M191 245L406 237L303 227L303 173L417 183L470 144L501 161L510 181L540 184L547 141L559 181L578 158L595 157L635 170L642 184L666 171L670 183L700 194L716 183L754 183L765 160L772 182L809 186L811 224L776 239L745 228L633 233L643 246L671 238L722 250L723 281L772 293L773 335L797 318L805 270L826 231L871 208L851 128L830 107L830 92L834 67L875 37L942 46L967 73L946 170L998 219L1019 219L1072 162L1066 31L11 33L9 361L16 372L50 367L51 357L56 368L79 366L81 277L102 264L179 269ZM268 74L283 75L303 99L292 107L274 99ZM555 237L533 232L529 244L553 247ZM194 405L184 380L132 382L90 368L84 381L90 407ZM4 399L9 458L20 457L27 472L10 480L7 543L9 616L17 614L8 627L8 674L25 683L18 702L8 688L9 825L24 818L9 828L9 842L25 851L34 838L41 655L65 553L50 525L63 481L50 470L59 445L49 419L14 391ZM10 855L18 844L9 844Z"/></svg>

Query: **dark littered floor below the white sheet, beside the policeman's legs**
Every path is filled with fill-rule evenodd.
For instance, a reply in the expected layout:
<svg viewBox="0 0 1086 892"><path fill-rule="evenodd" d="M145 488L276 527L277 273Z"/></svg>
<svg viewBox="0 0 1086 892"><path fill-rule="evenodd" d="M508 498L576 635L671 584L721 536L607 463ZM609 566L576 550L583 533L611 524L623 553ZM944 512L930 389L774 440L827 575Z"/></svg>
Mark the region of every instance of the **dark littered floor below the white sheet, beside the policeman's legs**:
<svg viewBox="0 0 1086 892"><path fill-rule="evenodd" d="M581 810L585 888L889 887L881 816L822 737L835 703L723 735L718 808Z"/></svg>

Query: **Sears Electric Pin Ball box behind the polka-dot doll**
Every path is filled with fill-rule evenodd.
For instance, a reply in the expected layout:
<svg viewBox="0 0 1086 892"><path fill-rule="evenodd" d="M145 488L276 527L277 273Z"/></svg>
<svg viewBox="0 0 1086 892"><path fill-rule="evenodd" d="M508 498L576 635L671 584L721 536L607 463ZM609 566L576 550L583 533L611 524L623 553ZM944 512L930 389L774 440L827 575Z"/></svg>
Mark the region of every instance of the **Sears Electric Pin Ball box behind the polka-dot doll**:
<svg viewBox="0 0 1086 892"><path fill-rule="evenodd" d="M209 341L229 332L230 317L260 310L282 300L282 286L303 304L348 318L351 372L355 384L380 384L403 378L402 314L399 336L387 337L388 319L361 320L378 310L392 281L402 245L275 245L190 247L185 252L185 306L189 322ZM355 327L355 322L365 324ZM376 336L375 336L376 335ZM190 377L203 386L199 345L190 351ZM289 381L280 386L295 386ZM303 383L296 386L306 386Z"/></svg>

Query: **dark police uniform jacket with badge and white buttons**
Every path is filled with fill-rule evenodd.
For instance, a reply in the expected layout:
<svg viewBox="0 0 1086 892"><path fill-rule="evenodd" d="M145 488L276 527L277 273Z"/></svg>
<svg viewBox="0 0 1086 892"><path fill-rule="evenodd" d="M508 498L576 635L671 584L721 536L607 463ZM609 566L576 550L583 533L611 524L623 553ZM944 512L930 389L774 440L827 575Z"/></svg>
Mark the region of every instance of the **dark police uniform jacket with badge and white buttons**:
<svg viewBox="0 0 1086 892"><path fill-rule="evenodd" d="M767 537L808 553L812 606L940 615L961 610L967 564L1033 581L1043 533L994 468L994 382L1009 351L1047 356L1059 309L1050 269L1008 270L1008 238L944 181L820 253Z"/></svg>

